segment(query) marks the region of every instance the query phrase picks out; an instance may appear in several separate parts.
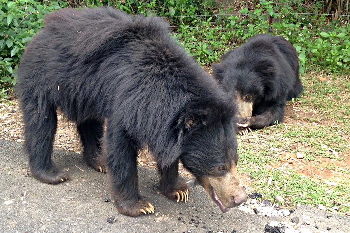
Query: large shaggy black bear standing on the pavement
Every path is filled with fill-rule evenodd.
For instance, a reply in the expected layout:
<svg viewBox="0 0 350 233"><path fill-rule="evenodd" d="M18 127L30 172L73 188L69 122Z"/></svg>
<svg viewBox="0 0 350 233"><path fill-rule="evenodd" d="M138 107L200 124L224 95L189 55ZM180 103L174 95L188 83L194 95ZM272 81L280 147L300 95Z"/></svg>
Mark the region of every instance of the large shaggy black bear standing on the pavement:
<svg viewBox="0 0 350 233"><path fill-rule="evenodd" d="M145 143L168 198L188 199L181 160L223 212L246 201L231 100L169 32L159 18L112 8L63 9L46 17L22 56L16 85L37 179L68 179L51 160L61 108L77 123L83 156L96 170L105 169L97 157L107 119L105 159L120 213L154 213L138 189L137 150Z"/></svg>

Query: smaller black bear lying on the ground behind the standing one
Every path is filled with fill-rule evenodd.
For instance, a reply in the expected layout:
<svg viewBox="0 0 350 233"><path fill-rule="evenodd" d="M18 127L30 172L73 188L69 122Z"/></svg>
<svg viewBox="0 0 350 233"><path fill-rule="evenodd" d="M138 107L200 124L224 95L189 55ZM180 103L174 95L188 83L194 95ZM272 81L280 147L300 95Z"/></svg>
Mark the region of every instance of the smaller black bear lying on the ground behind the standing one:
<svg viewBox="0 0 350 233"><path fill-rule="evenodd" d="M281 123L286 101L303 91L297 52L280 36L253 36L223 55L213 74L235 97L240 134Z"/></svg>

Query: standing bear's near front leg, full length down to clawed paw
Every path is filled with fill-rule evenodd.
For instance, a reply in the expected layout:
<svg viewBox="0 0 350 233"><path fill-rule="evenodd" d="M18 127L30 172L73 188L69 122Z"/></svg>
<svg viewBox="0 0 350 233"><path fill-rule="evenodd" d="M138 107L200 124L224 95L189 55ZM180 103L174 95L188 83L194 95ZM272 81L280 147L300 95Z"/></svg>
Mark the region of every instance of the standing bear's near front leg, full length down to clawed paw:
<svg viewBox="0 0 350 233"><path fill-rule="evenodd" d="M132 217L154 213L153 205L139 194L135 143L125 131L112 128L108 122L107 166L115 205L121 214Z"/></svg>

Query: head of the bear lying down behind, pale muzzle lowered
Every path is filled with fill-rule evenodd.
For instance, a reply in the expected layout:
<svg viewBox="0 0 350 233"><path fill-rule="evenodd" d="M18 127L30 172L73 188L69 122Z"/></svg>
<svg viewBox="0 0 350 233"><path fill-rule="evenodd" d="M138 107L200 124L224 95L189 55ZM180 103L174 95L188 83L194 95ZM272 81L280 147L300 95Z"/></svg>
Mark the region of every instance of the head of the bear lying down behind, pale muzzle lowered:
<svg viewBox="0 0 350 233"><path fill-rule="evenodd" d="M253 105L272 97L275 70L269 59L252 65L226 57L220 64L213 64L213 73L222 88L234 97L239 124L249 121Z"/></svg>

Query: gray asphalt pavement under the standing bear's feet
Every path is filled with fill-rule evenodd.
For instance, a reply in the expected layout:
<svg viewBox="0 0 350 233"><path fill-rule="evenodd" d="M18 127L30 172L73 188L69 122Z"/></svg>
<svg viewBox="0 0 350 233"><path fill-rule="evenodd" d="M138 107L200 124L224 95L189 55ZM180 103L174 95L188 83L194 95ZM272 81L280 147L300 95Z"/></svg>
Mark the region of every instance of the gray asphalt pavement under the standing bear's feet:
<svg viewBox="0 0 350 233"><path fill-rule="evenodd" d="M1 233L263 233L267 223L290 222L294 216L300 223L306 218L310 221L298 227L301 232L350 232L349 217L314 207L299 206L287 217L248 214L239 208L221 213L205 190L193 182L189 183L189 201L176 203L159 194L157 172L143 167L138 170L140 192L154 205L155 214L131 218L119 214L112 202L105 202L110 199L107 175L89 168L80 154L54 151L53 160L57 166L69 168L67 182L50 185L34 179L23 145L0 140ZM116 217L115 223L107 222L110 216Z"/></svg>

